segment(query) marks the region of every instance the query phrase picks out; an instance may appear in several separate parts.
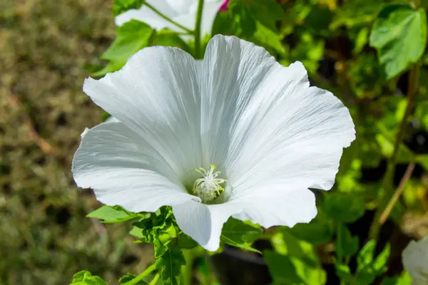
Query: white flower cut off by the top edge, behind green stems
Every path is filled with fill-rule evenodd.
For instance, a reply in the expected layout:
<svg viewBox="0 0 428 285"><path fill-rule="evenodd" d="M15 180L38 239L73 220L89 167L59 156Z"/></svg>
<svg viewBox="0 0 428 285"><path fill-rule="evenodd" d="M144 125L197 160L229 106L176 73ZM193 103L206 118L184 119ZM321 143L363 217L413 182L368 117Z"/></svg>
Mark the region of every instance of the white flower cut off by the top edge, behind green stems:
<svg viewBox="0 0 428 285"><path fill-rule="evenodd" d="M205 0L200 26L202 36L206 33L211 33L215 16L223 5L223 2L224 0ZM185 28L188 28L189 30L195 29L198 0L148 0L146 3L155 7L169 19L185 26ZM131 20L143 21L157 30L170 28L173 31L183 32L181 28L178 28L178 26L175 26L170 21L159 16L147 5L141 6L140 9L128 10L125 13L116 16L114 19L117 26L122 26L127 21Z"/></svg>

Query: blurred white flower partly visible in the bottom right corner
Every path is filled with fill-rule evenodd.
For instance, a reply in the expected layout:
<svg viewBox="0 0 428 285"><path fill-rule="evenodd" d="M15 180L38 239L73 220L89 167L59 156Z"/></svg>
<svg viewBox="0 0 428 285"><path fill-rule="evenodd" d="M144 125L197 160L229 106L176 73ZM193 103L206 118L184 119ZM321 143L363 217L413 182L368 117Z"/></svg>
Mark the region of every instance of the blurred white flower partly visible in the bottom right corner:
<svg viewBox="0 0 428 285"><path fill-rule="evenodd" d="M402 254L404 269L412 276L412 285L428 284L428 236L412 241Z"/></svg>

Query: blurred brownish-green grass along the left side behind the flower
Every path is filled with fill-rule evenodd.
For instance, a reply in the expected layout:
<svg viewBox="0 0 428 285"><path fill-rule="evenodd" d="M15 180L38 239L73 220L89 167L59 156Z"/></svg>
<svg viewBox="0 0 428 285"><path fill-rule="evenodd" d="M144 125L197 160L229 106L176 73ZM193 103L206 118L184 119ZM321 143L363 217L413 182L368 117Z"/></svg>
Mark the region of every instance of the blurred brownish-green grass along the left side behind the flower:
<svg viewBox="0 0 428 285"><path fill-rule="evenodd" d="M0 284L68 284L88 269L116 284L153 259L123 225L86 218L71 160L102 110L81 86L111 43L111 2L0 0Z"/></svg>

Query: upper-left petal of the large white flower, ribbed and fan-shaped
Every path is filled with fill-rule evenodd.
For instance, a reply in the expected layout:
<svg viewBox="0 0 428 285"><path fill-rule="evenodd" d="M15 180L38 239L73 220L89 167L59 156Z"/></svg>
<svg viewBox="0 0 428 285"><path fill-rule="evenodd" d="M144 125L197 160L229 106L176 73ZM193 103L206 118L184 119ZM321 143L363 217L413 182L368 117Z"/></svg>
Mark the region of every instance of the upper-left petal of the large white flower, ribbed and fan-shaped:
<svg viewBox="0 0 428 285"><path fill-rule="evenodd" d="M141 135L178 177L201 165L200 93L195 60L178 48L143 48L83 91Z"/></svg>

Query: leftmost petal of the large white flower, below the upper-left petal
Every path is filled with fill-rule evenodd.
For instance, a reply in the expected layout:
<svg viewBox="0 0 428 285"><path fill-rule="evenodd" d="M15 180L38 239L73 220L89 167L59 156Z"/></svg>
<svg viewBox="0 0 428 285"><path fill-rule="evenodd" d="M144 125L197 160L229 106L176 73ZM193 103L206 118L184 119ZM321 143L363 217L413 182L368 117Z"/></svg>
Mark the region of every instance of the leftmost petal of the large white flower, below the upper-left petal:
<svg viewBox="0 0 428 285"><path fill-rule="evenodd" d="M155 212L189 199L164 157L123 123L110 122L83 136L73 158L79 187L91 187L99 201L131 212Z"/></svg>

